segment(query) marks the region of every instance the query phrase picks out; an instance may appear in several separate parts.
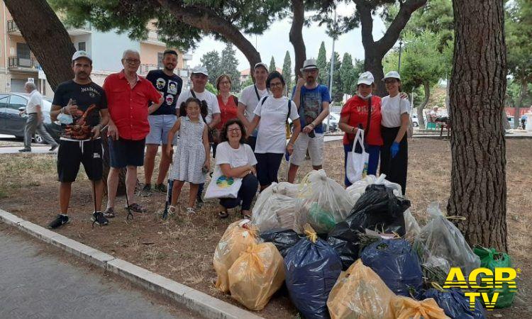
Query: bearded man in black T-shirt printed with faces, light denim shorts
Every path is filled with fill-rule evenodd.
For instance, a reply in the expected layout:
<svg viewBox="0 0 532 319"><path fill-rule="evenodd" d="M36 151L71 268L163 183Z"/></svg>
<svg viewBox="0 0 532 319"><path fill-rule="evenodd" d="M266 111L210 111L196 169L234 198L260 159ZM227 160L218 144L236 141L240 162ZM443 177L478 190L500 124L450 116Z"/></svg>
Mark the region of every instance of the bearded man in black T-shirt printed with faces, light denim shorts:
<svg viewBox="0 0 532 319"><path fill-rule="evenodd" d="M164 69L154 69L148 72L146 79L152 82L155 89L162 94L162 104L148 116L150 122L150 134L146 136L146 154L144 157L144 187L140 194L142 196L151 196L152 194L152 174L155 167L155 155L159 145L166 145L168 132L177 120L176 103L177 97L181 94L183 80L174 74L177 66L177 52L174 50L165 50L162 54L162 64ZM177 134L175 135L177 138ZM176 141L172 142L175 145ZM167 157L166 152L162 152L159 163L159 174L153 189L166 193L167 186L163 183L166 173L170 167L172 159Z"/></svg>

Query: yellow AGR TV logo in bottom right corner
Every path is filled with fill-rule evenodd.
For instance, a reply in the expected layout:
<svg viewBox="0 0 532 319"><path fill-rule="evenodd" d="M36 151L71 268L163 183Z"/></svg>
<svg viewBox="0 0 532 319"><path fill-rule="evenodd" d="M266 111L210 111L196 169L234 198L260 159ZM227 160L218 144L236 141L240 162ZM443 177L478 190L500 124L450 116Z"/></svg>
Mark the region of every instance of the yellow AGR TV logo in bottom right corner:
<svg viewBox="0 0 532 319"><path fill-rule="evenodd" d="M495 268L495 272L492 272L491 269L487 268L477 268L469 274L469 280L465 281L462 269L460 269L460 267L451 267L447 279L445 279L445 284L443 284L443 288L462 289L464 295L469 297L469 306L471 310L475 310L475 298L477 297L482 298L487 310L493 310L495 303L497 303L497 298L499 298L499 292L490 292L490 290L506 288L504 286L504 284L506 284L509 292L517 291L515 279L518 273L521 273L521 269L519 268L513 269L501 267ZM480 276L480 274L482 274L482 276ZM493 294L491 300L489 299L490 294Z"/></svg>

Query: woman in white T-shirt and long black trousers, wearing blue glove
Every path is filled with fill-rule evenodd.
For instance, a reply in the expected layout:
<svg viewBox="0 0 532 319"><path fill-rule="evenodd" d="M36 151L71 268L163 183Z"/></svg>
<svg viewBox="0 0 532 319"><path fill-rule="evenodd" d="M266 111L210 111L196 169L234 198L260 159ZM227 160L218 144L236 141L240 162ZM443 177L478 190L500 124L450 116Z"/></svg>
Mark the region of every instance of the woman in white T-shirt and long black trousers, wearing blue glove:
<svg viewBox="0 0 532 319"><path fill-rule="evenodd" d="M409 125L410 103L401 99L401 76L390 71L382 79L386 84L388 96L381 101L381 135L384 145L380 149L380 174L386 179L401 185L406 191L406 172L408 168L408 142L406 130Z"/></svg>

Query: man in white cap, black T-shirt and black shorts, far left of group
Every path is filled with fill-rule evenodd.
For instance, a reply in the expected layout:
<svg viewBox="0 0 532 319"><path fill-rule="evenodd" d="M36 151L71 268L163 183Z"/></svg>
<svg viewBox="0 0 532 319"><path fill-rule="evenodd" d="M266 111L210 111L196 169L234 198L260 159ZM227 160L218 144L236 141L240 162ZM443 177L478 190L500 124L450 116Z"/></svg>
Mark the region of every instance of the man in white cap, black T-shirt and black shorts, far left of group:
<svg viewBox="0 0 532 319"><path fill-rule="evenodd" d="M59 204L60 215L48 225L48 228L58 228L70 221L67 216L70 202L72 181L77 177L79 164L83 164L87 177L92 181L96 198L96 211L92 213L92 220L99 225L107 225L107 219L101 213L101 198L104 194L102 181L103 164L101 162L100 131L109 121L107 100L104 90L92 82L92 59L85 51L77 51L72 56L72 70L74 79L57 86L50 111L52 121L62 117L62 134L59 151L57 152L57 174L59 175ZM70 127L65 124L75 124L82 120L82 116L90 106L95 108L84 119L89 126L89 135L73 135ZM63 120L67 118L67 121ZM74 122L74 123L72 123ZM79 122L78 122L79 123Z"/></svg>

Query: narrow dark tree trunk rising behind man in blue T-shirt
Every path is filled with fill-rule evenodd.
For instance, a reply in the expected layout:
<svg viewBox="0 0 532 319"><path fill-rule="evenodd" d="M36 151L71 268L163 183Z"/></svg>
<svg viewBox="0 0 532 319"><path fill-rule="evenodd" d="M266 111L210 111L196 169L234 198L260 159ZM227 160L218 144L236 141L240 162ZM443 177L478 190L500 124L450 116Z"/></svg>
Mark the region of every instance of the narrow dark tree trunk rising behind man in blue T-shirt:
<svg viewBox="0 0 532 319"><path fill-rule="evenodd" d="M289 39L294 46L295 66L294 74L301 75L301 67L306 60L305 41L303 40L303 23L305 22L305 8L303 0L292 0L292 28ZM296 77L297 81L297 77Z"/></svg>

